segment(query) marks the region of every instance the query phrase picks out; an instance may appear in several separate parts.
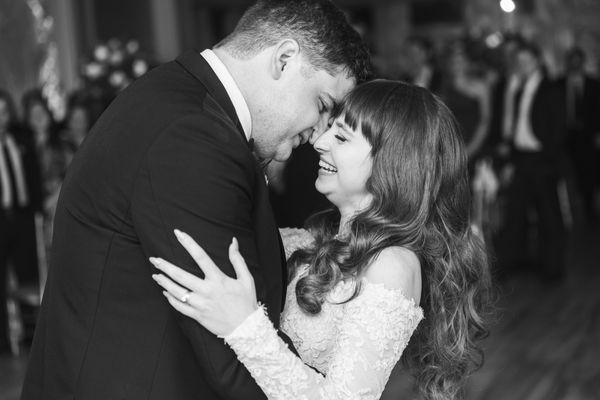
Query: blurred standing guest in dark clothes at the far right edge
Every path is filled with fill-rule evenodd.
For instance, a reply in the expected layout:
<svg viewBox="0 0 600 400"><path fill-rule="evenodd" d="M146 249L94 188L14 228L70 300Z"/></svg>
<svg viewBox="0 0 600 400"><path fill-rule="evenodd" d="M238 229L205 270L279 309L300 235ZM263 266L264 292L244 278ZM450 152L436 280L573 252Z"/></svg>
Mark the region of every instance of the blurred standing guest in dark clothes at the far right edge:
<svg viewBox="0 0 600 400"><path fill-rule="evenodd" d="M565 95L569 158L585 217L597 222L594 209L595 136L600 134L600 82L585 71L585 53L571 49L565 60L566 73L559 79Z"/></svg>

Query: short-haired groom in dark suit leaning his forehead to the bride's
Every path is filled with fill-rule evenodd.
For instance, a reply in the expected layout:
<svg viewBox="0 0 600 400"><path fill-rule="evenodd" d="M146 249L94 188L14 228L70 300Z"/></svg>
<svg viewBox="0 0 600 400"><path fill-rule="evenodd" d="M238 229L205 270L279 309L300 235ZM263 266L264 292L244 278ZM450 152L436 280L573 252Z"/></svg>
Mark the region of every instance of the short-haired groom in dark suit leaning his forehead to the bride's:
<svg viewBox="0 0 600 400"><path fill-rule="evenodd" d="M259 1L212 51L125 90L62 187L22 399L264 399L222 340L169 309L148 257L200 274L178 228L233 275L237 237L278 326L286 273L259 161L322 132L368 69L329 1Z"/></svg>

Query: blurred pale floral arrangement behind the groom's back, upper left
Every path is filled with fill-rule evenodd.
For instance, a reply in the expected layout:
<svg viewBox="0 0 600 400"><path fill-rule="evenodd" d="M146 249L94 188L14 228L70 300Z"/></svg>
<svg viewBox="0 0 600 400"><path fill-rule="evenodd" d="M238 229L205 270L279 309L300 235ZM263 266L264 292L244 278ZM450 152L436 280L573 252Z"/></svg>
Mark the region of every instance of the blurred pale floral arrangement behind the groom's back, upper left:
<svg viewBox="0 0 600 400"><path fill-rule="evenodd" d="M81 75L86 88L97 88L114 96L144 75L151 65L140 51L138 41L113 38L94 48L91 59L82 65Z"/></svg>

